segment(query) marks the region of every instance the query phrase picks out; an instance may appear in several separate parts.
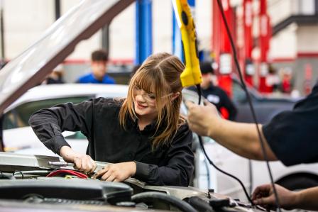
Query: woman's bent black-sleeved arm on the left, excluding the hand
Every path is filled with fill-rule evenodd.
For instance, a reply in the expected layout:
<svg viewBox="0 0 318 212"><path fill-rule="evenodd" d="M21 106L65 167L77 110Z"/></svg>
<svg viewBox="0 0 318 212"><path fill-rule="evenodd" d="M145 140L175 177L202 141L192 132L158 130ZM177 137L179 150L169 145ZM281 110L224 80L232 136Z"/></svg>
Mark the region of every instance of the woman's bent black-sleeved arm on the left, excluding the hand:
<svg viewBox="0 0 318 212"><path fill-rule="evenodd" d="M90 135L92 107L92 100L80 104L60 104L33 113L29 124L40 141L59 154L62 146L70 146L62 135L63 131L82 131L84 135Z"/></svg>

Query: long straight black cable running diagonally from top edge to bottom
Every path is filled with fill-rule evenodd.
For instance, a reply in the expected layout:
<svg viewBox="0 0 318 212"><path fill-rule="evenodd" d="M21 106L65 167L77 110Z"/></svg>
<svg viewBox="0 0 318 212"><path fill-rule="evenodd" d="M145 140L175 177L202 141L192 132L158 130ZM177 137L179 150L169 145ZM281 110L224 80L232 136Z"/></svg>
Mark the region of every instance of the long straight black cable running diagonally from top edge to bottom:
<svg viewBox="0 0 318 212"><path fill-rule="evenodd" d="M275 195L275 202L276 202L276 206L278 208L278 211L281 211L280 210L280 201L278 199L278 194L277 194L277 191L276 191L276 188L275 188L275 185L274 185L274 180L273 180L273 174L270 170L270 164L268 162L268 156L266 154L266 151L265 151L265 145L264 145L264 141L263 141L263 138L261 136L261 131L260 129L258 128L258 121L257 121L257 118L256 118L256 113L254 111L254 107L253 107L253 104L252 104L252 101L251 101L251 96L250 94L248 93L248 90L246 88L246 84L244 82L244 79L243 79L243 74L241 72L241 67L238 63L238 58L237 58L237 52L236 52L236 48L235 48L235 45L234 45L234 40L231 36L231 31L229 29L229 24L227 23L226 21L226 17L225 17L225 13L224 13L224 9L223 9L223 6L221 4L221 0L216 0L217 1L217 4L219 6L219 10L221 12L221 16L222 16L222 19L224 21L224 25L225 25L225 28L226 28L226 33L227 35L229 36L229 40L230 40L230 43L231 43L231 48L233 50L233 56L234 56L234 62L235 62L235 65L236 65L236 68L238 70L238 75L240 77L240 80L241 80L241 83L243 85L243 90L245 91L246 93L246 97L248 99L248 105L250 106L251 108L251 113L252 113L252 116L253 116L253 121L254 123L256 124L256 130L257 130L257 133L258 133L258 138L260 140L260 143L261 143L261 149L262 149L262 152L263 152L263 156L264 156L264 160L267 164L267 168L268 168L268 174L270 175L270 183L272 184L273 186L273 191L274 191L274 195Z"/></svg>

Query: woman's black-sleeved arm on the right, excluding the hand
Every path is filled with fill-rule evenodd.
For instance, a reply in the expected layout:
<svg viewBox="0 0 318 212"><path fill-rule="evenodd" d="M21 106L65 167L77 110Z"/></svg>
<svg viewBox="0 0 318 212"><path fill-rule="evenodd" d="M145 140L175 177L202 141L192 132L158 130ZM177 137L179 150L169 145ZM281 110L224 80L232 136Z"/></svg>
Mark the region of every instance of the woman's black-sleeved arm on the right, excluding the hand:
<svg viewBox="0 0 318 212"><path fill-rule="evenodd" d="M194 154L191 147L192 132L187 125L182 125L165 156L168 164L158 167L155 164L136 162L134 177L158 186L188 186L194 170Z"/></svg>

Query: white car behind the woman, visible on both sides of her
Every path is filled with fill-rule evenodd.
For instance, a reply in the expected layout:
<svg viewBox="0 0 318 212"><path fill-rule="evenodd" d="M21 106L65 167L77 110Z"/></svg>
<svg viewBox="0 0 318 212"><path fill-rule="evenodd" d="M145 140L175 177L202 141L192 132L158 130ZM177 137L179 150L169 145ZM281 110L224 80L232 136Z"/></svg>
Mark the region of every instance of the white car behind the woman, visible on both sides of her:
<svg viewBox="0 0 318 212"><path fill-rule="evenodd" d="M126 85L62 84L34 87L5 111L4 145L6 150L22 154L55 155L38 140L28 125L28 118L32 113L55 104L79 103L99 96L123 98L126 97L127 92L128 86ZM184 101L197 102L198 100L197 94L193 91L184 90L182 95ZM185 104L182 104L181 113L187 114ZM87 139L82 133L64 132L63 135L74 150L86 152ZM204 146L216 166L241 179L247 189L269 182L265 162L246 160L215 143L211 138L204 138ZM220 194L245 199L238 182L217 172L207 163L198 145L196 134L194 134L194 151L196 153L194 186L200 189L214 189ZM281 162L270 162L270 165L275 182L289 186L290 189L301 189L318 184L317 164L285 167Z"/></svg>

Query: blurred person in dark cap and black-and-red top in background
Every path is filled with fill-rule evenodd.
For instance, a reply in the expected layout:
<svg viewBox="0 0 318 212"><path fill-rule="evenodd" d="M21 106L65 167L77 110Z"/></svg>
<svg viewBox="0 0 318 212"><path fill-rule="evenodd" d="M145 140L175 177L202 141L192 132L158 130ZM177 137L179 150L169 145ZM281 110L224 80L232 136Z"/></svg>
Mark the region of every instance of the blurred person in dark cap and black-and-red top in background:
<svg viewBox="0 0 318 212"><path fill-rule="evenodd" d="M226 91L217 86L217 78L214 74L212 63L201 62L200 69L202 72L202 96L214 104L224 118L232 121L235 120L237 113L236 107L226 94ZM196 87L190 87L189 89L197 91Z"/></svg>

